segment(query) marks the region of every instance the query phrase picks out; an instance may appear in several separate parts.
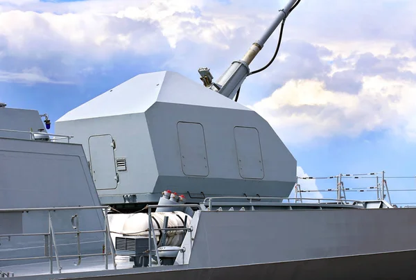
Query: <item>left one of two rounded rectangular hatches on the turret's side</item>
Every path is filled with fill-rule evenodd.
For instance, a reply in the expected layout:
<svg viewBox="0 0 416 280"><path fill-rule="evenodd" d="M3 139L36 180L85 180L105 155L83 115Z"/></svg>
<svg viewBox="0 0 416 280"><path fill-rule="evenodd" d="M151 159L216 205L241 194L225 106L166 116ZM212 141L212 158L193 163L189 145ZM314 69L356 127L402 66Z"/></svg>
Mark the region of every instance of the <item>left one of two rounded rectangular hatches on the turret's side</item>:
<svg viewBox="0 0 416 280"><path fill-rule="evenodd" d="M200 123L177 123L182 171L188 176L208 176L207 147Z"/></svg>

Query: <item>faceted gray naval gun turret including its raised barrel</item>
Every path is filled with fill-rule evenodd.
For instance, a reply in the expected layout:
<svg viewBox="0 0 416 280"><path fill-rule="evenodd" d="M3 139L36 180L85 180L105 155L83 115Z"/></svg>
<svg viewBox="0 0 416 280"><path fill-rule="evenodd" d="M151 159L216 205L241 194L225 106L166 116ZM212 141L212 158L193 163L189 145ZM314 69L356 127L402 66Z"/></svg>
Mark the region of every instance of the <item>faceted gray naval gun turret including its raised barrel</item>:
<svg viewBox="0 0 416 280"><path fill-rule="evenodd" d="M102 204L137 209L166 190L190 203L291 193L295 158L266 120L232 98L294 3L217 82L208 69L200 69L205 87L171 71L144 73L56 121L55 133L83 145Z"/></svg>

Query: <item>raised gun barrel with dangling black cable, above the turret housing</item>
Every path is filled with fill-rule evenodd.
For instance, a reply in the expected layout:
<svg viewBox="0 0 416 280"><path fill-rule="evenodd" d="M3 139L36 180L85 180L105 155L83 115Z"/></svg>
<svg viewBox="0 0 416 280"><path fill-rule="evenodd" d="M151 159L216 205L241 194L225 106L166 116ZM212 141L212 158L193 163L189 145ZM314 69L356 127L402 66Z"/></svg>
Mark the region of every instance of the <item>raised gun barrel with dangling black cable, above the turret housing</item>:
<svg viewBox="0 0 416 280"><path fill-rule="evenodd" d="M263 48L270 35L272 35L281 21L284 21L286 17L288 17L289 13L293 10L293 8L297 6L299 2L300 0L290 0L283 9L279 10L275 21L272 22L270 27L265 31L265 33L263 33L261 38L252 44L250 49L247 51L247 53L245 53L241 60L232 62L229 68L223 73L223 75L220 76L220 78L218 78L216 82L212 82L213 77L208 68L198 69L198 72L201 76L200 79L204 83L205 87L209 87L209 89L217 91L219 94L223 94L223 96L227 96L230 99L234 98L236 92L239 91L239 88L243 84L245 78L251 74L250 68L248 67L250 63ZM280 39L277 50L279 45ZM275 53L275 55L276 54L277 53Z"/></svg>

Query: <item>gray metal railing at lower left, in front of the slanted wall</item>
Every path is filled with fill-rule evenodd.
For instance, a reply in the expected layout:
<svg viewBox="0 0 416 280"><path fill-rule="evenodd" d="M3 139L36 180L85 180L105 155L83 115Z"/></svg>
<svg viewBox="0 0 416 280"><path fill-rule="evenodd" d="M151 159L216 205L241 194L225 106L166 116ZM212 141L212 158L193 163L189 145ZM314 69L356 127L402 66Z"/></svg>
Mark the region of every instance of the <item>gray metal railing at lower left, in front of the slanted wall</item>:
<svg viewBox="0 0 416 280"><path fill-rule="evenodd" d="M104 229L98 230L85 230L82 231L79 229L78 224L78 214L75 214L71 218L71 225L75 231L55 231L53 228L52 216L51 211L66 211L66 210L88 210L88 209L103 209L104 214ZM19 213L19 212L30 212L30 211L47 211L48 212L48 220L49 220L49 232L42 232L42 233L32 233L32 234L0 234L0 238L12 238L13 236L45 236L45 240L47 242L44 243L44 252L48 252L48 256L31 256L31 257L23 257L23 258L8 258L8 259L0 259L1 261L23 261L23 260L35 260L35 259L49 259L49 273L53 274L53 248L55 249L55 260L58 267L58 272L62 272L62 266L60 265L60 258L78 258L78 263L75 265L80 265L82 257L85 256L105 256L105 270L108 270L108 247L110 247L110 254L112 255L112 263L114 265L114 270L116 269L116 261L115 261L115 253L114 247L112 246L112 240L110 236L110 227L108 223L107 217L107 206L90 206L90 207L46 207L46 208L20 208L20 209L0 209L1 213ZM80 234L92 234L103 232L104 234L104 247L103 253L96 253L96 254L81 254L80 252ZM77 238L77 250L78 254L76 255L60 255L58 254L58 245L56 243L56 235L60 234L76 234ZM108 246L108 241L110 241L110 246Z"/></svg>

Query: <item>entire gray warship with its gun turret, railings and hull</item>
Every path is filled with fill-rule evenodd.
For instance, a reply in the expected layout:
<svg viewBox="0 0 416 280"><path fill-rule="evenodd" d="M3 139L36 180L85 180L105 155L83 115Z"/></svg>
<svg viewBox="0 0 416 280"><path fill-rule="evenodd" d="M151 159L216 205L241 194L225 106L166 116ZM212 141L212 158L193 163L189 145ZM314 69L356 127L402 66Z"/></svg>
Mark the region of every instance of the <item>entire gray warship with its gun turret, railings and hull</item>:
<svg viewBox="0 0 416 280"><path fill-rule="evenodd" d="M385 200L384 177L377 200L347 200L342 174L336 199L290 198L296 159L236 102L299 3L216 82L140 74L54 134L48 114L2 103L0 277L413 279L416 209Z"/></svg>

